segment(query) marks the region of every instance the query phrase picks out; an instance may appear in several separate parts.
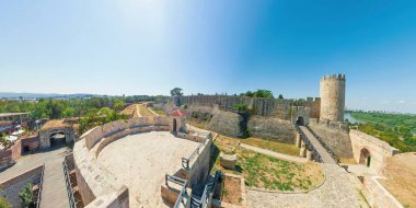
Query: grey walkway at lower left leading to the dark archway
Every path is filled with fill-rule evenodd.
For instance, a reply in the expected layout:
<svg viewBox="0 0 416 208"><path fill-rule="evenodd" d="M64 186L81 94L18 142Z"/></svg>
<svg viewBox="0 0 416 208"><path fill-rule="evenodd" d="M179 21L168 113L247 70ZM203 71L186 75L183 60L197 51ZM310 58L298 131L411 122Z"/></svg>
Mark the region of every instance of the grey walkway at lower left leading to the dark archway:
<svg viewBox="0 0 416 208"><path fill-rule="evenodd" d="M18 160L16 164L0 172L0 178L10 178L45 164L41 207L69 207L62 170L62 161L67 150L66 147L62 147L24 155Z"/></svg>

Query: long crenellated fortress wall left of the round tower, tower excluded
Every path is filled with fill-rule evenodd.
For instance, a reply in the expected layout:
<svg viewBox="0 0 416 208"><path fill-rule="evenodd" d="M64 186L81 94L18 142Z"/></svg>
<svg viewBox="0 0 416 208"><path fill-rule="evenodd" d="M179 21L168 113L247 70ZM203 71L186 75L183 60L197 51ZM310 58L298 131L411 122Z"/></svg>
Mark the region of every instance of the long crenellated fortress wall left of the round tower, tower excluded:
<svg viewBox="0 0 416 208"><path fill-rule="evenodd" d="M293 119L302 116L319 117L319 97L307 100L261 99L229 95L177 96L176 106L186 105L187 118L206 124L207 129L229 136L244 138L261 137L268 140L293 143L296 129ZM245 104L251 112L239 114L234 104Z"/></svg>

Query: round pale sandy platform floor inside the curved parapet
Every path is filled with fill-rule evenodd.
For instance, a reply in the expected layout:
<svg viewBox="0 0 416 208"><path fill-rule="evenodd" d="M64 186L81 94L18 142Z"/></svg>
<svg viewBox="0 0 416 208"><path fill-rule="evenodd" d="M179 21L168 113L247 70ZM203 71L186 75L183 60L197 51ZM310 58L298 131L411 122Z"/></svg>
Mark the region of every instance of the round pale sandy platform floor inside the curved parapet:
<svg viewBox="0 0 416 208"><path fill-rule="evenodd" d="M182 158L198 145L167 131L143 132L107 145L97 160L129 188L130 207L167 207L160 190L164 176L181 170Z"/></svg>

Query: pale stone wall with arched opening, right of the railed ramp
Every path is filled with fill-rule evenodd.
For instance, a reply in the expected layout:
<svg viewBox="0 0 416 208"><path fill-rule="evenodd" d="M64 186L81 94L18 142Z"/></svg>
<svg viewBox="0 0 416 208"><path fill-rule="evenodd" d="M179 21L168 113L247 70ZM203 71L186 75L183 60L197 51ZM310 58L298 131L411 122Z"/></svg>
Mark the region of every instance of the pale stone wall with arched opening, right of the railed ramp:
<svg viewBox="0 0 416 208"><path fill-rule="evenodd" d="M351 129L349 136L351 138L354 159L362 164L367 160L367 157L370 157L370 169L379 174L382 174L385 158L398 153L398 150L391 147L388 142L359 130ZM367 152L369 155L365 155Z"/></svg>

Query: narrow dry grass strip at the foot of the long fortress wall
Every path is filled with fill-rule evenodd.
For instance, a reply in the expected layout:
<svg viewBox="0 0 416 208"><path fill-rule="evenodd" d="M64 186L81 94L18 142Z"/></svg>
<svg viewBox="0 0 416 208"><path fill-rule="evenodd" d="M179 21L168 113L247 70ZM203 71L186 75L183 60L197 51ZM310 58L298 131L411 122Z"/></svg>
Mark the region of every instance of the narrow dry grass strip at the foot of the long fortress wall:
<svg viewBox="0 0 416 208"><path fill-rule="evenodd" d="M282 143L259 138L250 137L240 139L242 143L271 150L275 152L299 157L299 149L293 143Z"/></svg>

